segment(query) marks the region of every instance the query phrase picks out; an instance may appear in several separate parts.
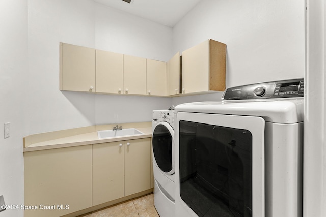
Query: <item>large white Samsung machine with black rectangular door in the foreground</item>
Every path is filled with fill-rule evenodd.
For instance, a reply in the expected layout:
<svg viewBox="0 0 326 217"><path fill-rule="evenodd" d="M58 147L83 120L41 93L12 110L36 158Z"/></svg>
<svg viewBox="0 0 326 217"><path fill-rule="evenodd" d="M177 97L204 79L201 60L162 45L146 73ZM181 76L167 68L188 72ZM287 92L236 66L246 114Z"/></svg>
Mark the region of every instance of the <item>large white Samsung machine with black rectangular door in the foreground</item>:
<svg viewBox="0 0 326 217"><path fill-rule="evenodd" d="M301 217L304 81L175 107L176 216Z"/></svg>

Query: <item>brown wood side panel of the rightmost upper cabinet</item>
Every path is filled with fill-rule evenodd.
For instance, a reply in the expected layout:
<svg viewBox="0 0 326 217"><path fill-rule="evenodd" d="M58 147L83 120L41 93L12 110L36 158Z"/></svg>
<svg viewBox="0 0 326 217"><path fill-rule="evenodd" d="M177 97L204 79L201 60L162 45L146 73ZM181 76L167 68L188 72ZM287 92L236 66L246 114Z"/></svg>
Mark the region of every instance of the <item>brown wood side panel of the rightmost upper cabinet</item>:
<svg viewBox="0 0 326 217"><path fill-rule="evenodd" d="M225 90L226 44L209 40L209 88L215 91Z"/></svg>

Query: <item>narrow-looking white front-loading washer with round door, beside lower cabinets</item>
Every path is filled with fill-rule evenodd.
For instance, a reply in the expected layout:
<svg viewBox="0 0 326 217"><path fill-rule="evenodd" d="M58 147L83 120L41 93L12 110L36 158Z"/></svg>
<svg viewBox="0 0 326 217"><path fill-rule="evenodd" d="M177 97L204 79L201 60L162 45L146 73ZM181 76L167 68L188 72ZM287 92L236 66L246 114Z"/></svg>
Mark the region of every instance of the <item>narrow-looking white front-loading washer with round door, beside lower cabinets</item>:
<svg viewBox="0 0 326 217"><path fill-rule="evenodd" d="M153 110L154 205L160 217L175 216L174 111Z"/></svg>

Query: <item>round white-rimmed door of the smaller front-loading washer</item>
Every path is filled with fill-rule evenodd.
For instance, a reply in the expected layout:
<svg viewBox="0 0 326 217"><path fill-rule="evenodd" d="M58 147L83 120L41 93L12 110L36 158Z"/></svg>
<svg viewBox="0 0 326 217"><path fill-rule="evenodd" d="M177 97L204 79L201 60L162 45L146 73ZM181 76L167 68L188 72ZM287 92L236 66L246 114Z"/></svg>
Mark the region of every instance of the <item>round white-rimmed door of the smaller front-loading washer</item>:
<svg viewBox="0 0 326 217"><path fill-rule="evenodd" d="M153 130L153 162L165 174L174 174L174 129L161 121Z"/></svg>

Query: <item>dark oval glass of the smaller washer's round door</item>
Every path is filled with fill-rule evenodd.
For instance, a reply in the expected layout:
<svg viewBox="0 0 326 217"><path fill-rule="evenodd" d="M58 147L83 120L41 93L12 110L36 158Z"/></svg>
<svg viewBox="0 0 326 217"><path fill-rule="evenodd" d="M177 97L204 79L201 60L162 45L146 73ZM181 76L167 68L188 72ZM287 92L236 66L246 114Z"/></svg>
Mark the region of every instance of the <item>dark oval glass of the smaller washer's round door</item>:
<svg viewBox="0 0 326 217"><path fill-rule="evenodd" d="M157 125L153 132L153 153L159 169L163 172L172 170L172 135L164 125Z"/></svg>

